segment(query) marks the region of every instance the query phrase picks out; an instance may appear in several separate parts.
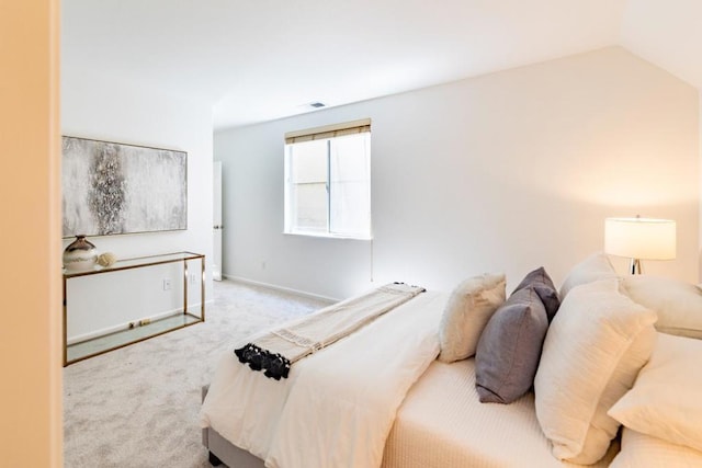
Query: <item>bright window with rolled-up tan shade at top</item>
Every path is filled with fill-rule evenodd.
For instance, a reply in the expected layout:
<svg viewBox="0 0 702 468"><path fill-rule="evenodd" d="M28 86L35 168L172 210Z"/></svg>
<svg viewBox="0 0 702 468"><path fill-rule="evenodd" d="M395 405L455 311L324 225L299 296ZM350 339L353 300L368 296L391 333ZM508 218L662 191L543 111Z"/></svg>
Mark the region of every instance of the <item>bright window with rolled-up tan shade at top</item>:
<svg viewBox="0 0 702 468"><path fill-rule="evenodd" d="M371 237L371 121L285 135L285 232Z"/></svg>

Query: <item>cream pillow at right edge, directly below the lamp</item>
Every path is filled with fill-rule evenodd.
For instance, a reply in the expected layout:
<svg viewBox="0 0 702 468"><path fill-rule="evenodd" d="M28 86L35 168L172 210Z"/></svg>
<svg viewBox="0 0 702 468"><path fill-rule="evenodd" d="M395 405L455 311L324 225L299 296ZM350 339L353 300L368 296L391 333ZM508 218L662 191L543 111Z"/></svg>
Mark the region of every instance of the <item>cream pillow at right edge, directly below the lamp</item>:
<svg viewBox="0 0 702 468"><path fill-rule="evenodd" d="M623 286L634 303L658 313L656 330L702 339L702 289L698 286L648 275L626 276Z"/></svg>

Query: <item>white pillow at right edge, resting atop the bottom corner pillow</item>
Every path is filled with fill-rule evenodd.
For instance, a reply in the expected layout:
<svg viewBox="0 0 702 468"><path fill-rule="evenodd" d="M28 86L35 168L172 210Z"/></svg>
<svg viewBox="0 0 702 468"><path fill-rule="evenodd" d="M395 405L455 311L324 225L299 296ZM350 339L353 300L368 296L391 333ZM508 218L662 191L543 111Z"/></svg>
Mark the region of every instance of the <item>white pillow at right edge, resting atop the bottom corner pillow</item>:
<svg viewBox="0 0 702 468"><path fill-rule="evenodd" d="M658 333L634 388L609 414L634 431L702 450L702 341Z"/></svg>

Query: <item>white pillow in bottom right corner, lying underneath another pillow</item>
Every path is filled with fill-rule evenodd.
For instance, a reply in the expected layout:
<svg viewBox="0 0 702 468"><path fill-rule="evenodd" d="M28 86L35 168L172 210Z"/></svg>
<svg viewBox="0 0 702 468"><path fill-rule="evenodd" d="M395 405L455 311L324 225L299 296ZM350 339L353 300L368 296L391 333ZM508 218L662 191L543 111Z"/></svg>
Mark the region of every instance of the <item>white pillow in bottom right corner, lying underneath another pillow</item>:
<svg viewBox="0 0 702 468"><path fill-rule="evenodd" d="M692 468L701 466L702 452L624 427L622 449L614 457L610 468Z"/></svg>

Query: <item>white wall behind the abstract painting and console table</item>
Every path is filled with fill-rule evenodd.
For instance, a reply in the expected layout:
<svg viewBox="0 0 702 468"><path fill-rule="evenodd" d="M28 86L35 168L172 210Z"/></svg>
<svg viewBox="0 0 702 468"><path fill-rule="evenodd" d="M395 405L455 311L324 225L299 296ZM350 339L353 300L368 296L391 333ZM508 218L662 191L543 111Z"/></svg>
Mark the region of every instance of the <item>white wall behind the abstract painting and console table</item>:
<svg viewBox="0 0 702 468"><path fill-rule="evenodd" d="M207 258L205 298L212 298L212 107L161 94L84 70L61 69L61 133L188 152L188 229L173 232L89 238L101 252L117 258L192 251ZM72 239L65 239L64 247ZM134 271L136 272L136 271ZM162 276L100 275L70 279L69 339L131 320L157 316L180 300L179 283L163 292ZM152 276L148 281L149 276ZM82 282L82 283L81 283ZM115 282L120 287L115 287ZM125 285L126 283L126 285ZM148 283L148 284L146 284ZM102 285L102 286L101 286ZM133 288L134 294L123 292ZM146 289L144 289L146 288ZM197 295L199 296L199 295Z"/></svg>

